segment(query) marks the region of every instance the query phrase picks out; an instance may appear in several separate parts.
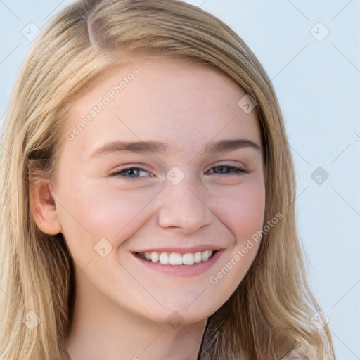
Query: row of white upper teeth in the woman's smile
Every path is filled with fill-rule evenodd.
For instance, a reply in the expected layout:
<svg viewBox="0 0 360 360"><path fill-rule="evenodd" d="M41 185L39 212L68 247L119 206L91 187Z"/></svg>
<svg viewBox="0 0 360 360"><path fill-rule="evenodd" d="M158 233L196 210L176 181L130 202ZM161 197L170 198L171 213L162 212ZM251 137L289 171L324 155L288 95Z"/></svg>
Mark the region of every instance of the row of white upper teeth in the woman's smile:
<svg viewBox="0 0 360 360"><path fill-rule="evenodd" d="M187 252L181 255L179 252L140 252L139 255L152 262L160 262L162 265L193 265L198 262L206 262L212 255L212 250L203 252Z"/></svg>

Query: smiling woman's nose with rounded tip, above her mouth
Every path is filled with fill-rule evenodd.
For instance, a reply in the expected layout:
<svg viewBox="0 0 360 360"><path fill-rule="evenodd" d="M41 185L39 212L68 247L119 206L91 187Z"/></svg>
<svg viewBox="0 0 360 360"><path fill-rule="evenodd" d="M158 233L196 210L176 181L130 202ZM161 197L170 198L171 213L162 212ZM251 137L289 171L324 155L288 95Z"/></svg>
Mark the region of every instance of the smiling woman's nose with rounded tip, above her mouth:
<svg viewBox="0 0 360 360"><path fill-rule="evenodd" d="M206 204L206 195L199 188L189 187L187 181L178 185L168 182L162 191L158 224L162 228L194 233L210 224L212 212Z"/></svg>

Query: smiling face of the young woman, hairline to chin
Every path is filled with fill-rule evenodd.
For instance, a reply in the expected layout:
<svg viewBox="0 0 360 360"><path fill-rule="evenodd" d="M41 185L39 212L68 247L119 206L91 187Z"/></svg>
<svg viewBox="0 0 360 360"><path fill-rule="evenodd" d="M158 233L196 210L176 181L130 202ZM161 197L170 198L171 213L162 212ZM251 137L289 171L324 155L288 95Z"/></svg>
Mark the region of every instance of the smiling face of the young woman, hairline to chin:
<svg viewBox="0 0 360 360"><path fill-rule="evenodd" d="M149 58L112 68L76 98L53 195L90 297L191 323L236 290L265 206L256 109L238 105L245 95L206 65Z"/></svg>

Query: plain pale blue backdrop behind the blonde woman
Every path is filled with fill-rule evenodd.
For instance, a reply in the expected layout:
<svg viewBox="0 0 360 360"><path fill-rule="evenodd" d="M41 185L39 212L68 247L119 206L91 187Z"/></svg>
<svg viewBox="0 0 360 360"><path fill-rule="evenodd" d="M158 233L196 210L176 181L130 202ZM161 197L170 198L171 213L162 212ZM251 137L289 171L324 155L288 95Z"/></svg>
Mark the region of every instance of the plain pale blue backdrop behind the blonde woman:
<svg viewBox="0 0 360 360"><path fill-rule="evenodd" d="M235 30L274 85L295 160L311 285L338 359L360 359L360 0L188 2ZM0 0L1 117L31 44L25 31L71 3Z"/></svg>

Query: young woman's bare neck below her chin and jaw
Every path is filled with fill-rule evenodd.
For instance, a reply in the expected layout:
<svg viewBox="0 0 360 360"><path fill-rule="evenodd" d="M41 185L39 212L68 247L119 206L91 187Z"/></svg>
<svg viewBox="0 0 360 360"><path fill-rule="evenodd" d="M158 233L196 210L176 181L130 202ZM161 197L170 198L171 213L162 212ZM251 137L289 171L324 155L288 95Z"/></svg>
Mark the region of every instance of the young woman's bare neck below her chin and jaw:
<svg viewBox="0 0 360 360"><path fill-rule="evenodd" d="M72 360L196 360L206 322L152 321L111 302L82 276L66 347Z"/></svg>

